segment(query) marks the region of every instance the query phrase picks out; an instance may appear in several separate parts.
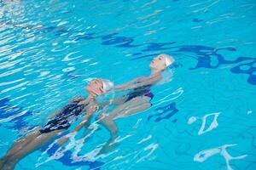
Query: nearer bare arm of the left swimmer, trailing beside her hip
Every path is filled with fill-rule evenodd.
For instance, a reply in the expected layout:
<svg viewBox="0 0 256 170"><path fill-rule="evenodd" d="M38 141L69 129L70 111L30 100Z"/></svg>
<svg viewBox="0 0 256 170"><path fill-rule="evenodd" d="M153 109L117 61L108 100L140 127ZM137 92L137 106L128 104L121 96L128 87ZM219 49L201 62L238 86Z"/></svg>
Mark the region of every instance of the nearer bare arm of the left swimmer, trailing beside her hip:
<svg viewBox="0 0 256 170"><path fill-rule="evenodd" d="M73 129L73 131L71 131L70 133L68 133L67 135L65 135L64 137L62 137L61 139L59 139L57 141L57 144L62 145L64 143L67 142L67 140L69 139L70 136L76 134L77 132L79 132L79 130L84 127L89 121L90 121L90 117L93 115L93 113L96 111L97 105L96 103L93 103L89 106L89 109L87 111L87 114L84 116L84 119L82 122L79 123L79 125L77 127L75 127Z"/></svg>

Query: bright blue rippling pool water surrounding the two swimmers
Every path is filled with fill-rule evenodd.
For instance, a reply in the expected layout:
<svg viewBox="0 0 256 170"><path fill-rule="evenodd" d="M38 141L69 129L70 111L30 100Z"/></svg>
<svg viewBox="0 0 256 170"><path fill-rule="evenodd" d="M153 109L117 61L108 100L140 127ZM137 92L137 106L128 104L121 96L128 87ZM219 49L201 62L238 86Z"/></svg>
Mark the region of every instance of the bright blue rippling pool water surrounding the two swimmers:
<svg viewBox="0 0 256 170"><path fill-rule="evenodd" d="M15 169L256 169L254 0L0 1L0 157L44 125L92 77L119 84L176 59L147 111L117 120L118 144L98 124ZM116 94L118 95L118 94Z"/></svg>

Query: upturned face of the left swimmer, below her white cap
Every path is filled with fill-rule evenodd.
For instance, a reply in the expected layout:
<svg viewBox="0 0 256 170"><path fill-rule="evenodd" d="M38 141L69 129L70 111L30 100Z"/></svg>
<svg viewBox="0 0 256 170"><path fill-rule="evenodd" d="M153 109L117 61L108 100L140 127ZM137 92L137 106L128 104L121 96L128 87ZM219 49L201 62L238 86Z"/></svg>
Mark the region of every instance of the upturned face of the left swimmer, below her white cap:
<svg viewBox="0 0 256 170"><path fill-rule="evenodd" d="M96 78L95 80L90 81L85 89L89 94L93 96L104 94L103 82L99 78Z"/></svg>

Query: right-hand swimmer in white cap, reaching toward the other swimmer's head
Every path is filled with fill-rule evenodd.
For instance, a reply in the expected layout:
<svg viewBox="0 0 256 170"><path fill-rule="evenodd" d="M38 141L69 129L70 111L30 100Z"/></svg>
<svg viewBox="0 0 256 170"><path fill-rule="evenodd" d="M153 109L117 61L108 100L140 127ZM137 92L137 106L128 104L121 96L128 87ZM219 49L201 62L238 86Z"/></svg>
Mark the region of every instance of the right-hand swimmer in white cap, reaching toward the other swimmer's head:
<svg viewBox="0 0 256 170"><path fill-rule="evenodd" d="M113 141L117 138L118 128L114 120L131 116L139 111L147 110L151 104L154 94L151 93L150 88L162 79L161 73L166 70L169 65L174 63L172 56L168 54L160 54L150 62L151 74L148 77L138 77L131 82L115 86L114 91L120 92L131 90L129 94L122 96L120 99L111 99L103 105L117 105L117 107L108 112L106 115L99 115L97 117L99 123L105 126L110 132L110 139L108 143L102 147L100 153L108 151L113 146Z"/></svg>

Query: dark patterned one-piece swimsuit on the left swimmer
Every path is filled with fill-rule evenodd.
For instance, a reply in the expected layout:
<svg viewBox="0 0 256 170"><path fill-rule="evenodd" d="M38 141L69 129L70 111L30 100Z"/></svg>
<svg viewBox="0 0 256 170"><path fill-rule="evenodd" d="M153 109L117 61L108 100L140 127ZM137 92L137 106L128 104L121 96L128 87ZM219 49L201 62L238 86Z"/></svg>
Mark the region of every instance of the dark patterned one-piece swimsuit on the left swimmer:
<svg viewBox="0 0 256 170"><path fill-rule="evenodd" d="M40 133L49 133L55 130L67 129L71 126L71 123L81 115L86 105L78 105L80 101L73 101L61 108L61 112L55 116L55 119L47 122L39 131Z"/></svg>

